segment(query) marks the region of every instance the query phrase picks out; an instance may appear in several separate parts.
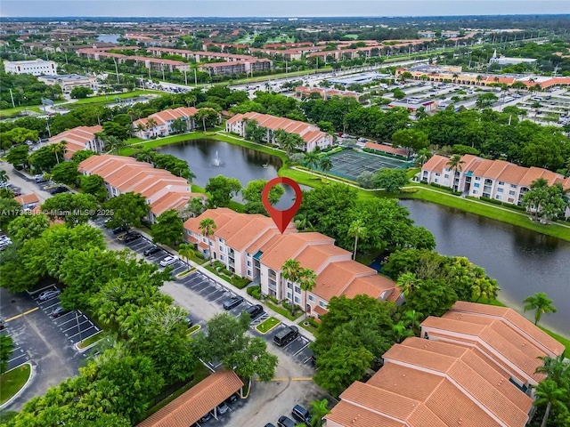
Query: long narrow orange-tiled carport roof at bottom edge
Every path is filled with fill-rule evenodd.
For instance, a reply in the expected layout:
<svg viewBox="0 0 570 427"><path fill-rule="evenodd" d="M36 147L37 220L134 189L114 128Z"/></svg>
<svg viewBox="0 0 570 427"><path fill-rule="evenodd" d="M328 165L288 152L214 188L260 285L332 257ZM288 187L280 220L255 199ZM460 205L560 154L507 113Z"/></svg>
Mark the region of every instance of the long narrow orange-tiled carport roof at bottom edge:
<svg viewBox="0 0 570 427"><path fill-rule="evenodd" d="M188 427L212 410L216 416L215 408L232 394L240 391L241 387L243 382L235 372L221 369L137 425L138 427Z"/></svg>

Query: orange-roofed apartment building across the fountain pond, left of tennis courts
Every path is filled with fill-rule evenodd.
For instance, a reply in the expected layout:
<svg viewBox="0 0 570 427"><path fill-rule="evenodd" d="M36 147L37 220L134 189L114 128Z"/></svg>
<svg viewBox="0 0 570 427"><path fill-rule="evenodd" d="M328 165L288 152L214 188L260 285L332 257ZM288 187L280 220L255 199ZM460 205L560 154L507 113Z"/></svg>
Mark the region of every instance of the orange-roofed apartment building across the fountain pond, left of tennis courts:
<svg viewBox="0 0 570 427"><path fill-rule="evenodd" d="M259 127L266 129L265 141L276 144L274 132L283 129L288 133L297 133L305 141L305 146L300 147L303 151L314 151L317 147L326 149L333 143L332 135L322 132L317 126L308 123L291 120L285 117L275 117L269 114L249 112L236 114L225 122L225 132L238 133L245 137L247 121L255 120Z"/></svg>

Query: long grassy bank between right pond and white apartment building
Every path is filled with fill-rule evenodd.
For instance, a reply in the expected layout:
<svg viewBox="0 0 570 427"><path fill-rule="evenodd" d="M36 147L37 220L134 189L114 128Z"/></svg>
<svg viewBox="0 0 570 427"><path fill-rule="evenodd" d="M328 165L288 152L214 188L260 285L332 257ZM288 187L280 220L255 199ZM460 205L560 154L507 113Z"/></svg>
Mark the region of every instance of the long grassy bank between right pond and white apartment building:
<svg viewBox="0 0 570 427"><path fill-rule="evenodd" d="M528 215L525 213L518 213L511 210L503 211L501 209L497 209L493 205L473 202L465 198L453 196L445 191L430 191L419 187L417 192L405 193L402 195L402 198L426 200L438 205L455 207L471 214L485 216L486 218L507 222L528 230L538 231L539 233L546 234L548 236L570 241L570 228L561 227L556 224L543 225L531 222L528 219Z"/></svg>

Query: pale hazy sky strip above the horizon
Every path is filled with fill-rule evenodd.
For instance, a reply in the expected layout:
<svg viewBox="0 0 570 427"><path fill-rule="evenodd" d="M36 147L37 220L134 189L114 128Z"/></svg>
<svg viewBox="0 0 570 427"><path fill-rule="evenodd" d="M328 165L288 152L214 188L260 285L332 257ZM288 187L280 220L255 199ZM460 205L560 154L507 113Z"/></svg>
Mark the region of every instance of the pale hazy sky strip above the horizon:
<svg viewBox="0 0 570 427"><path fill-rule="evenodd" d="M4 17L339 17L570 13L570 0L0 0Z"/></svg>

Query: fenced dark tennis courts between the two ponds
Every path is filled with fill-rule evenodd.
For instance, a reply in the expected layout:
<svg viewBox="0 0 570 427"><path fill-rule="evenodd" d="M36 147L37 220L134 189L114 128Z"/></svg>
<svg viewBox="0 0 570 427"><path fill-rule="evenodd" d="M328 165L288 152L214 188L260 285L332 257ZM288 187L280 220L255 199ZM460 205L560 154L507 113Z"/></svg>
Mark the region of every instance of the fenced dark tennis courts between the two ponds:
<svg viewBox="0 0 570 427"><path fill-rule="evenodd" d="M404 160L349 149L331 154L330 160L332 169L329 173L351 181L358 181L358 176L362 172L375 173L380 169L403 169L410 165L410 162Z"/></svg>

